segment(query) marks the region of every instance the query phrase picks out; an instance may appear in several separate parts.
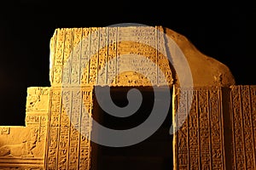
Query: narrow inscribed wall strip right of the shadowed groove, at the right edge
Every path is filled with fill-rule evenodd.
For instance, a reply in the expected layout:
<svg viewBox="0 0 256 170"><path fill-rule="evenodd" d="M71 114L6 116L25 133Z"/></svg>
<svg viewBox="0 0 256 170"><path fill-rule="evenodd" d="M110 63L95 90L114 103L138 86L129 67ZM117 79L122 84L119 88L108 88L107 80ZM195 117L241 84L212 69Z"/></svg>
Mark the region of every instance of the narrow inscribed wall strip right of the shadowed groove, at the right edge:
<svg viewBox="0 0 256 170"><path fill-rule="evenodd" d="M256 87L234 86L230 99L233 169L255 169Z"/></svg>

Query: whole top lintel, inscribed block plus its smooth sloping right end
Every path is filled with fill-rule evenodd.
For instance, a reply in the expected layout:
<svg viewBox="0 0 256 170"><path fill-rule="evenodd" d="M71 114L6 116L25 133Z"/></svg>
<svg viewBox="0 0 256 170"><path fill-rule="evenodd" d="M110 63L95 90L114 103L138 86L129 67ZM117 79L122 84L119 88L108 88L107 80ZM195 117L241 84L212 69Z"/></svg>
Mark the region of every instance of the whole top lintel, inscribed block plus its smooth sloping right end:
<svg viewBox="0 0 256 170"><path fill-rule="evenodd" d="M147 86L151 81L152 85L160 86L166 79L170 86L173 83L179 84L176 81L179 77L167 59L177 52L171 39L177 43L188 61L194 86L235 84L227 66L201 54L186 37L160 26L57 29L51 39L50 82L52 86L61 86L61 83ZM138 57L119 58L127 54L141 55L148 61ZM178 57L172 58L172 62L177 63L176 66L183 66L178 65ZM132 63L133 70L141 75L138 76L134 71L120 74L125 71L128 63ZM160 71L165 77L160 76ZM145 75L149 81L142 82Z"/></svg>

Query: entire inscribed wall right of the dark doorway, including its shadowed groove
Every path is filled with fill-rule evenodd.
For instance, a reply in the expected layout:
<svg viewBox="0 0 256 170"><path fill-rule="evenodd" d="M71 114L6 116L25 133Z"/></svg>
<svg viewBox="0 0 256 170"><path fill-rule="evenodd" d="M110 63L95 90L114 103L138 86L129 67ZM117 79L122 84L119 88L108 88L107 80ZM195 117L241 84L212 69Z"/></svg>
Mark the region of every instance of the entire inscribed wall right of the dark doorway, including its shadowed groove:
<svg viewBox="0 0 256 170"><path fill-rule="evenodd" d="M187 98L194 97L174 135L175 169L255 169L255 91L255 86L232 86L184 92L178 115L189 111Z"/></svg>

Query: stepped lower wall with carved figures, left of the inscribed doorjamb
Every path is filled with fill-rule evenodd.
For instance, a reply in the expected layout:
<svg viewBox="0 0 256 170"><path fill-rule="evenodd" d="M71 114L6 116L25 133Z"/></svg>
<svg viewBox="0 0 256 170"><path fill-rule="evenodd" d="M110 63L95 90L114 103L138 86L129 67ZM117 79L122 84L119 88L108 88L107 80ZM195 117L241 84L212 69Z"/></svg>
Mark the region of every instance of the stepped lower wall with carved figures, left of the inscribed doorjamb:
<svg viewBox="0 0 256 170"><path fill-rule="evenodd" d="M26 127L0 127L0 169L44 169L50 88L28 88Z"/></svg>

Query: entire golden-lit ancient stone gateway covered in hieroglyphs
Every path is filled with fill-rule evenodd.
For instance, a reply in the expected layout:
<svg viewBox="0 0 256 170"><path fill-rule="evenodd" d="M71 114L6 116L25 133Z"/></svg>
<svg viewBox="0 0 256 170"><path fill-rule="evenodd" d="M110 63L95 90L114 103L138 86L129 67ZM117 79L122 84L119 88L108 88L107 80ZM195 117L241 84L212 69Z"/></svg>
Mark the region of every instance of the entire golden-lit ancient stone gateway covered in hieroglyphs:
<svg viewBox="0 0 256 170"><path fill-rule="evenodd" d="M180 60L168 61L177 54L170 37L193 87L181 87ZM225 65L186 37L161 26L57 29L50 50L51 87L27 89L26 127L0 127L0 169L96 169L95 87L165 85L173 89L173 117L185 120L173 136L174 169L256 168L256 86L236 86Z"/></svg>

